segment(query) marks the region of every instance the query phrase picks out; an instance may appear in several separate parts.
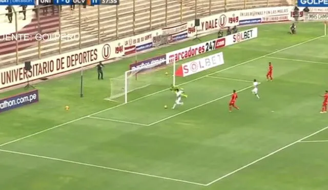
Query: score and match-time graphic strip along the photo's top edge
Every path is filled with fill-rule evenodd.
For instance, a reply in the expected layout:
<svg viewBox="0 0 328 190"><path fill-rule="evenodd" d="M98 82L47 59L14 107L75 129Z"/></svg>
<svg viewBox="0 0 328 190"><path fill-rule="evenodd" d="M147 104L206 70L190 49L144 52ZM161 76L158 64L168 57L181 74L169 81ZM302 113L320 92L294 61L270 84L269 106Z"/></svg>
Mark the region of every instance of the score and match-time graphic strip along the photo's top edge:
<svg viewBox="0 0 328 190"><path fill-rule="evenodd" d="M119 5L119 0L0 0L0 6L14 5Z"/></svg>

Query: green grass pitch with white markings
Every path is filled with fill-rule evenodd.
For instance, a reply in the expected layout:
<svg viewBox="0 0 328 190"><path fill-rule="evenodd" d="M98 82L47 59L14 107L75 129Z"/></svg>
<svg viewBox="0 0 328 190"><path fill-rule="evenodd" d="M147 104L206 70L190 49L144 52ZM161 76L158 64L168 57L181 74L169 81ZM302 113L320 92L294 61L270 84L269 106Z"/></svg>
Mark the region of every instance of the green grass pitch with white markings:
<svg viewBox="0 0 328 190"><path fill-rule="evenodd" d="M134 57L107 65L105 80L87 70L84 98L79 73L37 84L38 103L0 115L1 189L328 189L328 115L319 113L328 37L321 23L299 23L296 35L289 25L258 26L256 39L193 57L222 51L226 63L177 78L189 97L175 110L163 108L175 100L165 76L172 67L141 74L153 83L130 93L127 104L104 100L110 78L124 74ZM273 82L265 81L269 61ZM259 100L251 93L254 78ZM230 113L233 89L241 110Z"/></svg>

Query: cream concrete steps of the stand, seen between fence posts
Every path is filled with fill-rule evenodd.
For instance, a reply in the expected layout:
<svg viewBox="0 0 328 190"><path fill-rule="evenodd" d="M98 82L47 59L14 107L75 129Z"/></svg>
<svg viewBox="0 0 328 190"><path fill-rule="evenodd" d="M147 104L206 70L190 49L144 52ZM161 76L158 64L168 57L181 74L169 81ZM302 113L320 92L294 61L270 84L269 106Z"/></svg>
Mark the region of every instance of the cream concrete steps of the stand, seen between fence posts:
<svg viewBox="0 0 328 190"><path fill-rule="evenodd" d="M285 5L282 4L281 0L269 0L274 6ZM139 0L135 5L135 31L133 33L133 3L129 0L121 0L118 9L116 6L99 6L100 10L100 43L115 40L118 38L124 38L138 33L143 33L149 30L155 30L163 28L166 26L172 26L182 22L187 22L188 20L195 19L195 5L193 0L183 1L182 6L182 17L180 14L180 1L168 1L167 18L163 17L163 12L166 11L165 6L166 0L153 0L152 9L150 10L150 2L148 0ZM207 0L199 0L197 4L197 14L199 16L205 16L209 14L209 3ZM266 6L267 0L261 1L251 1L250 6ZM258 3L260 2L260 3ZM235 0L228 0L231 4L229 8L231 9L242 9L244 7L243 3ZM63 11L61 12L61 33L66 34L78 34L78 7L75 11L70 11L69 7L63 6ZM212 1L211 12L212 14L223 12L224 1ZM116 34L116 12L118 12L118 35ZM152 19L149 19L150 14ZM56 23L56 22L54 22ZM55 31L58 32L57 27ZM81 48L89 47L98 44L98 7L88 6L86 9L81 8ZM47 32L52 32L49 30ZM42 41L41 43L41 58L46 58L51 55L56 55L59 53L59 40L56 41ZM21 45L19 45L19 48ZM23 47L23 45L22 45ZM15 46L14 46L15 48ZM73 51L79 49L78 41L62 41L61 42L61 52L65 53L68 51ZM38 58L38 46L37 43L32 44L27 49L22 49L18 52L19 62L24 62L27 60L35 60ZM16 54L8 53L5 55L0 55L1 60L6 60L2 64L12 65L16 62ZM0 66L1 67L1 66Z"/></svg>

